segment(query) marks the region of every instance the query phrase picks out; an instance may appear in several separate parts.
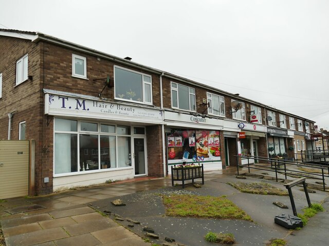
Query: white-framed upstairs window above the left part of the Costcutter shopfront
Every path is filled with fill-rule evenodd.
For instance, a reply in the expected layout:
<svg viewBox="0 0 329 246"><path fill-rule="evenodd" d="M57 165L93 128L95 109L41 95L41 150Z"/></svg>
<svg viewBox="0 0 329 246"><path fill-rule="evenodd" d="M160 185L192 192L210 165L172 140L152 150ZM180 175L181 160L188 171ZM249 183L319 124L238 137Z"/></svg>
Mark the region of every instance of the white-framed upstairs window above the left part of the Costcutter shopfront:
<svg viewBox="0 0 329 246"><path fill-rule="evenodd" d="M172 82L171 106L176 109L196 111L195 89Z"/></svg>

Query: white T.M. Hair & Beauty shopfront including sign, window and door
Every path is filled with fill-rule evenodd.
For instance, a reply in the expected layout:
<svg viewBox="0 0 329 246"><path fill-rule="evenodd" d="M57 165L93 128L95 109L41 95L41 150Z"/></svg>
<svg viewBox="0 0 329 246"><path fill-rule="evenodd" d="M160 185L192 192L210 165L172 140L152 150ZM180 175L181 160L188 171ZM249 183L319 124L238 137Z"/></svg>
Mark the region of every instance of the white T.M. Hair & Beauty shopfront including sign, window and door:
<svg viewBox="0 0 329 246"><path fill-rule="evenodd" d="M163 124L161 110L57 91L45 91L45 102L54 191L147 175L146 126Z"/></svg>

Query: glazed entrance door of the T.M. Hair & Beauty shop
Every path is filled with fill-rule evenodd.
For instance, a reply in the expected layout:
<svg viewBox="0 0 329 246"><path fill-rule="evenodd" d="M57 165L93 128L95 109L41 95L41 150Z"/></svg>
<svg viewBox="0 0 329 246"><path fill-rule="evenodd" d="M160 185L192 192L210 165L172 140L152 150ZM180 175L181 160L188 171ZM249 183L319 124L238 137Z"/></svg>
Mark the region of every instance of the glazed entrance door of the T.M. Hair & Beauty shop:
<svg viewBox="0 0 329 246"><path fill-rule="evenodd" d="M146 174L145 138L134 137L135 176Z"/></svg>

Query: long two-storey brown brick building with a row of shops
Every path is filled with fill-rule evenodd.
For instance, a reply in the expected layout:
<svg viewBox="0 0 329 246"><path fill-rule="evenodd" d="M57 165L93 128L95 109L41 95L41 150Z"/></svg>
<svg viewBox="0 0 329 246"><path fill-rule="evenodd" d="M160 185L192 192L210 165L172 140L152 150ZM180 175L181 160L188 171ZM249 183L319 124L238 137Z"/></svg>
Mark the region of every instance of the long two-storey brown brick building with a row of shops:
<svg viewBox="0 0 329 246"><path fill-rule="evenodd" d="M237 154L288 153L295 140L306 148L305 126L314 128L238 94L46 34L0 29L0 44L0 139L35 139L38 195L166 176L183 161L225 169L245 163Z"/></svg>

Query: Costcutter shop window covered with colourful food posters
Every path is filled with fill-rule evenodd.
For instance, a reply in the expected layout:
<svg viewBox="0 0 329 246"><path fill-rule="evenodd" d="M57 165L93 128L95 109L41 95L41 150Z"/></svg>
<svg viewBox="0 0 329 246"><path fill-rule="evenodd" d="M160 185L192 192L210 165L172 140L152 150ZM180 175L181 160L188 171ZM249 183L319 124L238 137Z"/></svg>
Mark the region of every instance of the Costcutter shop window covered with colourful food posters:
<svg viewBox="0 0 329 246"><path fill-rule="evenodd" d="M173 129L167 146L169 164L221 160L219 131Z"/></svg>

